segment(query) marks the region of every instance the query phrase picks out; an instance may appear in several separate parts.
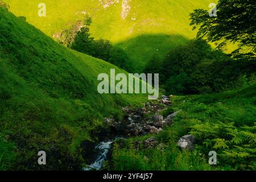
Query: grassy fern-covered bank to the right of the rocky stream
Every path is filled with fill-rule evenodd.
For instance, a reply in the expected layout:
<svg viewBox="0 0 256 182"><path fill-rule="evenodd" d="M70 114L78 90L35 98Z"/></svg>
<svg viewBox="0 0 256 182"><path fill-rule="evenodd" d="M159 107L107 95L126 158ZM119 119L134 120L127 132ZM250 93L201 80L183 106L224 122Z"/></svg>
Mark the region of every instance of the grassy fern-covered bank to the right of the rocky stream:
<svg viewBox="0 0 256 182"><path fill-rule="evenodd" d="M116 170L255 170L256 84L224 93L174 96L164 116L182 110L171 126L158 135L130 138L115 144ZM246 126L245 126L246 125ZM181 151L180 137L196 136L195 150ZM154 136L159 145L138 147ZM122 145L122 147L120 147ZM208 164L209 151L217 165Z"/></svg>

